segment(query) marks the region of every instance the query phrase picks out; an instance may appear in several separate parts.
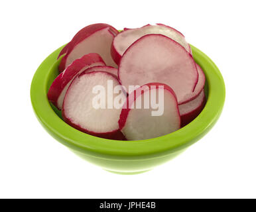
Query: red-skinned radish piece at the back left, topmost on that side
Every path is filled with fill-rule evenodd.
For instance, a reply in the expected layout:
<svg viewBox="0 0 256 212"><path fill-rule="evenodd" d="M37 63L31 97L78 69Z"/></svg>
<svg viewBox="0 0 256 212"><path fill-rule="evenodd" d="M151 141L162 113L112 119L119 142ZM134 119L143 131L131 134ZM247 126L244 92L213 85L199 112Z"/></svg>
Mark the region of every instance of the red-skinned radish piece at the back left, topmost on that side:
<svg viewBox="0 0 256 212"><path fill-rule="evenodd" d="M60 62L59 71L64 71L74 60L92 52L99 54L108 66L117 67L110 53L111 43L117 33L113 26L106 24L82 28L60 52L58 57L62 54L65 56Z"/></svg>

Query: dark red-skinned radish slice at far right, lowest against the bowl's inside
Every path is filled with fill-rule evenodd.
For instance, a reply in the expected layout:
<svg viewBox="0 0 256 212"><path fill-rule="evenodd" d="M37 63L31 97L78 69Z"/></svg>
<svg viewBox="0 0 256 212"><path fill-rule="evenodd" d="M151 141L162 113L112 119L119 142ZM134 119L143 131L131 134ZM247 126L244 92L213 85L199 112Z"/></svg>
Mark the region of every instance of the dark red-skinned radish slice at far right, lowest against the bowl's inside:
<svg viewBox="0 0 256 212"><path fill-rule="evenodd" d="M203 89L196 99L193 99L188 103L178 105L178 109L180 110L181 127L184 127L193 121L199 113L201 113L202 109L204 109L205 103L206 97Z"/></svg>

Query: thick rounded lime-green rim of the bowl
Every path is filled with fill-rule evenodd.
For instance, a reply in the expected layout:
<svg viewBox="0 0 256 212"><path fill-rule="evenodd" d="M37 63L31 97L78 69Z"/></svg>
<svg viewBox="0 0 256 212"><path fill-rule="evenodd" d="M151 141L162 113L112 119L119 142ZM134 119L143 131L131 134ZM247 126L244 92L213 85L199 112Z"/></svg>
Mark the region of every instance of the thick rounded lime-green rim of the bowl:
<svg viewBox="0 0 256 212"><path fill-rule="evenodd" d="M64 45L65 46L65 45ZM225 84L218 67L206 54L191 46L192 54L206 75L208 100L200 115L178 131L147 140L109 140L80 132L66 124L52 109L47 99L48 81L61 46L40 64L31 83L31 103L38 121L56 140L73 150L96 157L120 158L161 157L182 150L200 139L220 117L225 101Z"/></svg>

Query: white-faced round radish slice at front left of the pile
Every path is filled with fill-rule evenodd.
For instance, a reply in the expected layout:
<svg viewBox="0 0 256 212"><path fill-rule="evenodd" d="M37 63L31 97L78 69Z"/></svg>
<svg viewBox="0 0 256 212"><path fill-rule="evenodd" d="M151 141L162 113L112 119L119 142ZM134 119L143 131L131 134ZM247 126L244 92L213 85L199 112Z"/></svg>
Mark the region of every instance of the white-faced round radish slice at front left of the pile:
<svg viewBox="0 0 256 212"><path fill-rule="evenodd" d="M117 139L120 136L119 115L122 105L119 108L107 107L107 103L115 103L115 97L121 96L125 99L126 95L113 93L108 89L109 81L113 87L120 85L115 76L107 72L82 72L71 83L66 93L62 116L66 123L79 131L99 136L101 138ZM106 91L105 100L102 99L105 108L97 105L97 94L95 89L103 87ZM113 99L111 100L111 95ZM115 106L115 105L113 105ZM99 107L99 108L97 108Z"/></svg>

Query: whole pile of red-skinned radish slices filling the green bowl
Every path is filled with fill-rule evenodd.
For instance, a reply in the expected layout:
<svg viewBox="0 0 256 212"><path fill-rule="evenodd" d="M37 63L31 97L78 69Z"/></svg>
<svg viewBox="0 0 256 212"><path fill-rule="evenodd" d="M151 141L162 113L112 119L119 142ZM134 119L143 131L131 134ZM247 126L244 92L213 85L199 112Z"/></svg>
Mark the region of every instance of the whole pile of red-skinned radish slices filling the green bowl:
<svg viewBox="0 0 256 212"><path fill-rule="evenodd" d="M190 123L206 102L204 72L170 26L86 26L58 59L48 99L68 125L94 136L162 136Z"/></svg>

